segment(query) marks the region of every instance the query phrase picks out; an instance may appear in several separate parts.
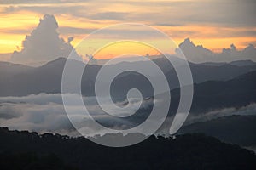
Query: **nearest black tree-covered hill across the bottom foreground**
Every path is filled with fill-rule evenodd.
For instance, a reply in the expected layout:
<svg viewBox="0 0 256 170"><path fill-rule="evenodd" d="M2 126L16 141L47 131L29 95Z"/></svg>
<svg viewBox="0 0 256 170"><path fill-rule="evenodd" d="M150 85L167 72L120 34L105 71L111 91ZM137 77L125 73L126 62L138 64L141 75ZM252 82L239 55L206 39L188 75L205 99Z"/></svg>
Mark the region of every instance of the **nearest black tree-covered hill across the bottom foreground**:
<svg viewBox="0 0 256 170"><path fill-rule="evenodd" d="M109 148L84 138L38 135L7 128L0 129L0 138L1 169L35 169L34 165L38 165L36 169L256 168L253 152L201 134L185 134L176 139L151 136L124 148ZM49 168L44 167L44 162ZM19 165L20 168L15 168Z"/></svg>

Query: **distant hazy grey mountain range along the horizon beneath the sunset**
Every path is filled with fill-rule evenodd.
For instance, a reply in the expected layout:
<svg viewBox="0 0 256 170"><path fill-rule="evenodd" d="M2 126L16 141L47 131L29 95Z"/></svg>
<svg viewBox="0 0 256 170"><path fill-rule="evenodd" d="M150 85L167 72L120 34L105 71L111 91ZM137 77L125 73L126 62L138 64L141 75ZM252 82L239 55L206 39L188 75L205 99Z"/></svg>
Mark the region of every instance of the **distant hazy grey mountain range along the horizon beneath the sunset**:
<svg viewBox="0 0 256 170"><path fill-rule="evenodd" d="M29 67L25 65L14 65L0 62L0 96L22 96L39 93L61 93L61 77L66 59L55 59L40 67ZM134 63L123 62L116 65L108 65L108 68L123 67L124 65L141 65L138 61ZM154 59L154 62L164 71L171 89L179 86L176 71L166 59ZM243 61L241 61L243 62ZM183 66L181 60L176 61ZM82 64L82 63L81 63ZM194 82L206 82L209 80L225 81L250 71L256 70L256 65L199 65L189 63ZM88 65L82 79L82 93L87 96L95 95L94 84L97 72L101 65ZM2 71L3 70L3 71ZM151 76L158 80L157 75ZM136 79L136 81L134 81ZM143 75L135 74L132 71L125 72L116 77L113 81L113 95L124 99L125 92L130 88L142 90L143 97L153 95L153 90L148 85L148 80ZM120 96L119 96L120 95Z"/></svg>

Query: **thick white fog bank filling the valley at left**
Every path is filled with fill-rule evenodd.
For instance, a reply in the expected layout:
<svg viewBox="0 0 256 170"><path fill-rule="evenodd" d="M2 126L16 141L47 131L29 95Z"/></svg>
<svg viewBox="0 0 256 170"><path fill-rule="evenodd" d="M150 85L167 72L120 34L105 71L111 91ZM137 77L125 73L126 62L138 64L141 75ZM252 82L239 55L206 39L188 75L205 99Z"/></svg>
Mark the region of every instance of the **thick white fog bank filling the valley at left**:
<svg viewBox="0 0 256 170"><path fill-rule="evenodd" d="M78 94L68 94L71 98ZM131 109L125 109L119 114L125 115L127 112L135 112L134 106L137 105L137 99L131 99ZM125 101L126 102L126 101ZM152 101L143 102L142 108L147 108ZM113 117L102 111L97 104L95 97L84 97L84 103L90 116L106 127L114 129L124 129L133 127L140 122L143 116L141 112L138 116L130 119ZM110 105L105 102L107 107ZM123 105L123 103L117 103ZM105 129L93 127L89 117L84 116L82 105L69 105L72 113L69 116L78 119L81 127L86 129L88 136L108 133ZM72 136L78 136L79 133L74 129L69 121L64 106L62 105L61 94L32 94L23 97L0 97L0 124L2 127L10 129L36 131L38 133L61 133Z"/></svg>

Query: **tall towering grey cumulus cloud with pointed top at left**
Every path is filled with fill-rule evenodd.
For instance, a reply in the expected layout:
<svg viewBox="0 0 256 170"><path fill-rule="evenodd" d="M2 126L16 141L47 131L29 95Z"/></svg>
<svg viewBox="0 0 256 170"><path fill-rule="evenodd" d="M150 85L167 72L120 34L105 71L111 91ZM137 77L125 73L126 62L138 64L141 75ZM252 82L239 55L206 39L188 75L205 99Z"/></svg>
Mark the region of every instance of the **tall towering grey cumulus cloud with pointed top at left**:
<svg viewBox="0 0 256 170"><path fill-rule="evenodd" d="M22 50L14 52L11 61L26 65L42 65L49 60L67 57L73 46L70 44L71 41L65 42L59 37L57 28L55 17L45 14L38 27L22 42Z"/></svg>

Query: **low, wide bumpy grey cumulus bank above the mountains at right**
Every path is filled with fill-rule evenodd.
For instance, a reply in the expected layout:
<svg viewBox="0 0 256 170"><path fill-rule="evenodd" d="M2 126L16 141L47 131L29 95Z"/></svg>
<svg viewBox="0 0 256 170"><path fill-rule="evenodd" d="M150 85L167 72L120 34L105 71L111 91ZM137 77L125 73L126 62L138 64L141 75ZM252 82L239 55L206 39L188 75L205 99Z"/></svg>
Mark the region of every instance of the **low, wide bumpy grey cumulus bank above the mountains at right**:
<svg viewBox="0 0 256 170"><path fill-rule="evenodd" d="M184 42L179 44L179 48L182 49L183 54L189 61L194 63L204 62L231 62L234 60L246 60L250 59L256 61L256 48L253 44L249 44L247 48L239 51L234 44L230 45L230 48L224 48L221 53L213 53L211 50L204 48L202 45L195 45L189 38L186 38ZM176 51L179 55L179 51Z"/></svg>

